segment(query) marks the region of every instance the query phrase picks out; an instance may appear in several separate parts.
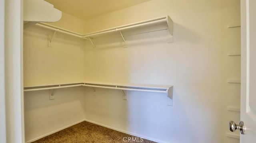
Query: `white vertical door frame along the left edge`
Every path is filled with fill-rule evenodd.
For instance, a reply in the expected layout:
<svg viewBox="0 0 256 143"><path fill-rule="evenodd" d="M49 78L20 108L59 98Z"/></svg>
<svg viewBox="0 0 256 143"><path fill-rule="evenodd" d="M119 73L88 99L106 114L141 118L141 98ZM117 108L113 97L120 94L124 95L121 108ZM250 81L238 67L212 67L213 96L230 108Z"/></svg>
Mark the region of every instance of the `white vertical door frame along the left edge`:
<svg viewBox="0 0 256 143"><path fill-rule="evenodd" d="M4 1L6 142L24 143L23 0ZM3 62L1 60L1 62ZM2 76L2 75L0 75Z"/></svg>

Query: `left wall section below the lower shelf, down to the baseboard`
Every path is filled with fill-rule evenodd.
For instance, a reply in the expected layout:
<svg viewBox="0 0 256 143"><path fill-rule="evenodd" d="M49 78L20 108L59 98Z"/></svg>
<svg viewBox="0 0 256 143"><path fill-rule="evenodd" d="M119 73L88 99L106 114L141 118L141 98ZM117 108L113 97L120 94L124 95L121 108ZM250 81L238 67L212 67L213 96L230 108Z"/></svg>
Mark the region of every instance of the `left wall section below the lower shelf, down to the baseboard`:
<svg viewBox="0 0 256 143"><path fill-rule="evenodd" d="M55 89L54 100L49 100L49 90L25 92L24 103L26 141L84 120L82 87Z"/></svg>

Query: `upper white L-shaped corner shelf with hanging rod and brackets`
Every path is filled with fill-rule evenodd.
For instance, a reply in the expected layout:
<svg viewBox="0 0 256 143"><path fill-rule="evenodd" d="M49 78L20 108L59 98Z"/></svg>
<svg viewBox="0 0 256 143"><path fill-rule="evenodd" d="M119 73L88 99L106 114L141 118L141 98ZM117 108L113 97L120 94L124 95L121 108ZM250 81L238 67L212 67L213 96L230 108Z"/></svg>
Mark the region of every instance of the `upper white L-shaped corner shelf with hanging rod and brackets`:
<svg viewBox="0 0 256 143"><path fill-rule="evenodd" d="M54 30L56 32L66 33L66 34L76 36L79 38L88 39L92 43L93 47L96 47L93 43L93 38L117 32L118 34L120 34L120 37L122 37L123 42L126 43L125 36L122 33L123 31L131 31L134 29L151 27L151 26L155 26L155 25L164 25L164 28L162 28L162 29L167 29L167 31L168 31L167 36L169 38L169 43L173 41L173 22L169 16L155 18L152 20L146 20L146 21L142 21L142 22L136 22L133 24L117 26L117 27L113 27L110 29L105 29L105 30L101 30L101 31L97 31L97 32L87 33L87 34L76 33L73 31L69 31L67 29L63 29L63 28L56 27L56 26L46 24L46 23L42 23L42 22L40 22L36 25ZM154 29L152 31L156 31L156 29ZM152 32L152 31L143 31L142 33Z"/></svg>

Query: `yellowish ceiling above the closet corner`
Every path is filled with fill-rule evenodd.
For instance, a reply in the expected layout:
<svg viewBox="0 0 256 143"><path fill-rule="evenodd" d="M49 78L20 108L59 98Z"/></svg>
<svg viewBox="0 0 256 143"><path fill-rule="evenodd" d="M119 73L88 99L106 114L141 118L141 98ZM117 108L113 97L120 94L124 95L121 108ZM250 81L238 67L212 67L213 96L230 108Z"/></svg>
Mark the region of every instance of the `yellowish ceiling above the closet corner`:
<svg viewBox="0 0 256 143"><path fill-rule="evenodd" d="M149 0L45 0L55 8L80 18L88 20L109 12L134 6Z"/></svg>

